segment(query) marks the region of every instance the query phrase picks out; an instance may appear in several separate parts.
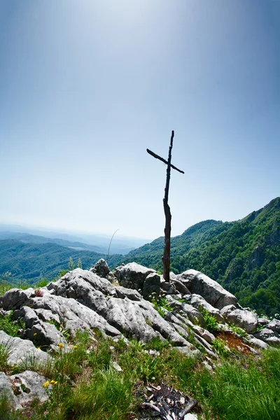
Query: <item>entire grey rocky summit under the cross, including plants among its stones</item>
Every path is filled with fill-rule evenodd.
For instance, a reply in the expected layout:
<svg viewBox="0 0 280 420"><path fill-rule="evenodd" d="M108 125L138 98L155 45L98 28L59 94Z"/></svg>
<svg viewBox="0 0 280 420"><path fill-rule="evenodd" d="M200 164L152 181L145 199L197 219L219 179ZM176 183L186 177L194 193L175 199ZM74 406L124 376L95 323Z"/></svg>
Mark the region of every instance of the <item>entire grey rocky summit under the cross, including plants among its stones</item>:
<svg viewBox="0 0 280 420"><path fill-rule="evenodd" d="M22 325L19 337L0 330L8 366L27 365L29 360L51 364L56 351L70 351L71 338L79 330L89 332L93 340L97 330L116 342L168 340L176 351L191 358L200 355L209 370L220 357L217 337L224 340L225 349L235 341L237 351L252 355L280 344L280 321L258 318L213 279L193 269L170 277L167 283L136 262L111 272L99 260L90 270L73 269L42 288L8 290L0 298L1 316ZM20 409L35 397L48 399L42 386L46 381L31 370L1 372L0 393L8 394L13 407Z"/></svg>

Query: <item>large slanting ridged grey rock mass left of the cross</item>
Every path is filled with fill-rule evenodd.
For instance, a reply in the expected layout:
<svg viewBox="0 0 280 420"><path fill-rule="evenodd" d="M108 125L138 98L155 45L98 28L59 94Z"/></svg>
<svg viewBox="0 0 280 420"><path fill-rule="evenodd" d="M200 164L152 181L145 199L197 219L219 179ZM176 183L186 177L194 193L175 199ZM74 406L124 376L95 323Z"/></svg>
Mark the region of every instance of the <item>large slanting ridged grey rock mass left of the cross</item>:
<svg viewBox="0 0 280 420"><path fill-rule="evenodd" d="M39 319L44 314L42 310L47 310L59 317L59 325L63 325L71 335L75 335L77 330L97 328L111 337L125 334L143 342L160 337L162 340L170 339L174 345L188 345L186 339L137 290L113 286L90 271L74 269L41 290L41 296L28 289L26 294L25 290L11 290L3 297L5 309L19 307L15 303L17 301L25 302L25 306L15 311L14 316L27 322L24 335L36 344L38 340L44 346L64 344L55 325Z"/></svg>

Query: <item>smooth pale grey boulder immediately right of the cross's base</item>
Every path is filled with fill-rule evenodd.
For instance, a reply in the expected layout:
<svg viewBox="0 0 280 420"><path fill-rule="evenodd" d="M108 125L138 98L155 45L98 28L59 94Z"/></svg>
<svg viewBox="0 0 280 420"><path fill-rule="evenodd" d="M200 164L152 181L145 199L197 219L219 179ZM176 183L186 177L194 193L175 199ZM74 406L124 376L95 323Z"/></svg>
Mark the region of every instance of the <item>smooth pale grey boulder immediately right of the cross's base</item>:
<svg viewBox="0 0 280 420"><path fill-rule="evenodd" d="M232 293L195 269L188 269L186 272L179 274L177 279L184 283L191 293L204 297L215 308L222 309L228 304L237 304L237 298Z"/></svg>

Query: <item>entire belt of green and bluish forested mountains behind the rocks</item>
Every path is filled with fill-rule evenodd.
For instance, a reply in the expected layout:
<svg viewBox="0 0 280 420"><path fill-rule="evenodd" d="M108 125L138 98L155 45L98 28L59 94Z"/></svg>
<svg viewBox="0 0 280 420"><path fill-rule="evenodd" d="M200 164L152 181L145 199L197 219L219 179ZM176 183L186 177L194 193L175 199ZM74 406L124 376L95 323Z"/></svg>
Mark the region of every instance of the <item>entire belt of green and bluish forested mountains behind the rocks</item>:
<svg viewBox="0 0 280 420"><path fill-rule="evenodd" d="M0 238L5 235L0 232ZM20 240L19 240L20 239ZM28 239L28 243L27 243ZM15 279L51 279L65 269L70 256L89 268L106 253L90 251L83 242L52 239L41 243L38 236L23 234L0 241L0 276L12 272ZM57 241L59 241L57 243ZM63 246L62 246L63 245ZM127 255L111 255L111 267L121 262L139 262L162 270L164 238L160 237ZM239 302L274 315L280 312L280 198L235 222L203 221L171 241L171 269L175 273L197 269L235 293Z"/></svg>

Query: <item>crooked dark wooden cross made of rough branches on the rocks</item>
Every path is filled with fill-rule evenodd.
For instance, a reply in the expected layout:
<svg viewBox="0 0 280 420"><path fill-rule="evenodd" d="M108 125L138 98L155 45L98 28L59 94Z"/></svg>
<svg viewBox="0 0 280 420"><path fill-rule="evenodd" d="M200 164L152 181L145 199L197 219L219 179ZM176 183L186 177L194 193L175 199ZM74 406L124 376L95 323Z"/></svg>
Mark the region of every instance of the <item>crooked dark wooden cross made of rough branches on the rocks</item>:
<svg viewBox="0 0 280 420"><path fill-rule="evenodd" d="M165 279L165 281L168 281L168 283L170 283L170 235L171 235L171 217L172 217L171 212L170 212L170 207L168 205L170 172L171 172L171 168L173 168L173 169L176 169L176 171L181 172L181 174L185 173L181 171L181 169L174 167L174 165L172 165L171 163L173 139L174 139L174 131L172 130L168 160L160 158L159 155L156 155L155 153L147 149L147 152L150 155L152 155L153 158L159 159L162 162L164 162L165 165L167 165L167 181L165 184L165 198L163 199L163 209L165 210L165 251L163 252L163 256L162 256L162 267L163 267L163 278Z"/></svg>

